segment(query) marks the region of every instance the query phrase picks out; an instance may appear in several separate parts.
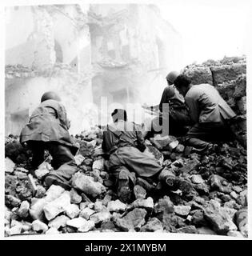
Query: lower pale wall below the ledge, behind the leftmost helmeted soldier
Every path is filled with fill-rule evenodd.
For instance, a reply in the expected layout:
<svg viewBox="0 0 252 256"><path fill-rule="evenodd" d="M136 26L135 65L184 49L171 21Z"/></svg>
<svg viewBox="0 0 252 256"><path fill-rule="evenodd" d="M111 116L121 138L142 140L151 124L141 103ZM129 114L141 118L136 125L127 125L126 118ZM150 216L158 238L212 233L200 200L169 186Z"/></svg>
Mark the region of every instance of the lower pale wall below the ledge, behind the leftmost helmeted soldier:
<svg viewBox="0 0 252 256"><path fill-rule="evenodd" d="M71 120L70 132L76 134L80 129L87 128L88 121L85 120L86 104L92 102L90 81L80 79L78 75L74 75L69 70L58 69L54 72L55 74L50 77L39 75L34 78L8 79L6 82L8 83L6 117L26 109L29 109L29 114L31 114L38 106L42 94L47 90L54 90L58 92L63 105L66 106L68 117ZM21 129L19 127L19 130ZM14 133L14 131L17 130L13 130L13 127L7 121L6 134Z"/></svg>

